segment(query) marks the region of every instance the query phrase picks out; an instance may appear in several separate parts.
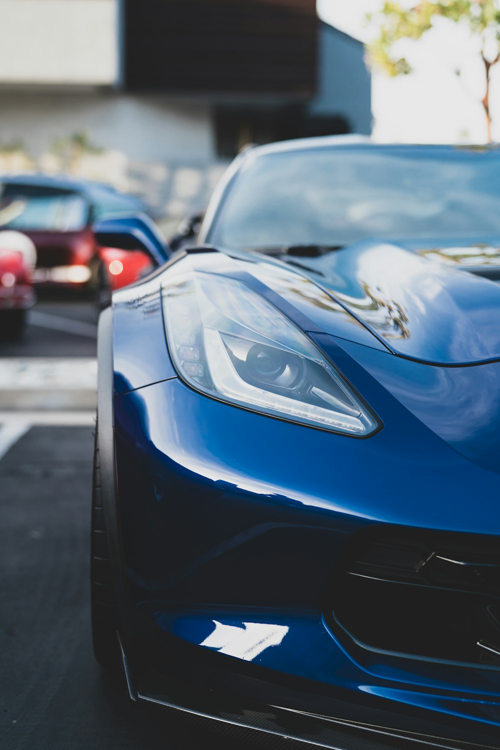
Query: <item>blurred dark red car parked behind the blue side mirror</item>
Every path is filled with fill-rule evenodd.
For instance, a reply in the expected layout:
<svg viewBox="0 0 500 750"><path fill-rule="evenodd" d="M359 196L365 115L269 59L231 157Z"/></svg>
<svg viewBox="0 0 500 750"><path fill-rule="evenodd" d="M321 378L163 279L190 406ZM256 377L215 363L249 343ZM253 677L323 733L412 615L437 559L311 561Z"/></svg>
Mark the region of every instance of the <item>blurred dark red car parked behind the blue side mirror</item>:
<svg viewBox="0 0 500 750"><path fill-rule="evenodd" d="M102 261L92 224L144 208L135 196L97 182L46 175L0 178L0 229L19 230L34 242L36 287L97 291Z"/></svg>

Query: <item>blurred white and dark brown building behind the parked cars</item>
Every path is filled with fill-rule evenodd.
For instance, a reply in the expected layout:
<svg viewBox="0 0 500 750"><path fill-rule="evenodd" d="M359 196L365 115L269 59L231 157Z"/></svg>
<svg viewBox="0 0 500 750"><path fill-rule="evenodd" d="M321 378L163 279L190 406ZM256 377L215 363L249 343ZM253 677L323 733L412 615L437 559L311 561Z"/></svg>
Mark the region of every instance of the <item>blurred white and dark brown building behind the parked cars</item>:
<svg viewBox="0 0 500 750"><path fill-rule="evenodd" d="M202 208L241 146L371 130L361 43L316 0L0 0L0 172Z"/></svg>

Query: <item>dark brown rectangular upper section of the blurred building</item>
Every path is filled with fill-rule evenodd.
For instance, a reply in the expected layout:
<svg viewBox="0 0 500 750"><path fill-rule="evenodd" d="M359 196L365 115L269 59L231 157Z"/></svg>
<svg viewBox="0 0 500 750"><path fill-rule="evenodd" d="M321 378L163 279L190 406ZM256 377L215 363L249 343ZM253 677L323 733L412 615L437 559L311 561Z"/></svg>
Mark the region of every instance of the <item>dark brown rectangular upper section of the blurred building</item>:
<svg viewBox="0 0 500 750"><path fill-rule="evenodd" d="M124 84L308 98L317 28L316 0L125 0Z"/></svg>

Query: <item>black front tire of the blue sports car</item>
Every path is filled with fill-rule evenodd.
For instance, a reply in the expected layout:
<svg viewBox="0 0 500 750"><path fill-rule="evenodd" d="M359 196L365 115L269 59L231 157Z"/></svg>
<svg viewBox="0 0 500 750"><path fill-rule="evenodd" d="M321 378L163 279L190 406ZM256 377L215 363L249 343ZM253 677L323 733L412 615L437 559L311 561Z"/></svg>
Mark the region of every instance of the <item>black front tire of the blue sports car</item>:
<svg viewBox="0 0 500 750"><path fill-rule="evenodd" d="M116 673L121 667L121 652L118 645L118 601L112 584L111 557L104 525L98 425L95 428L92 472L90 580L94 655L101 666Z"/></svg>

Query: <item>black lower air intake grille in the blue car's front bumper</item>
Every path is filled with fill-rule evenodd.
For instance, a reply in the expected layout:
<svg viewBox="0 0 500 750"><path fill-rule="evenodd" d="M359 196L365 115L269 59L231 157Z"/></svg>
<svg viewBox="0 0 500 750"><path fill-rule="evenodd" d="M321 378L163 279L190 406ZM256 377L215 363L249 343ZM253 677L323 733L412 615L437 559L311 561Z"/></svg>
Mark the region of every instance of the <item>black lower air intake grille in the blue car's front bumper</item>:
<svg viewBox="0 0 500 750"><path fill-rule="evenodd" d="M334 571L325 615L365 648L500 668L499 540L358 537Z"/></svg>

